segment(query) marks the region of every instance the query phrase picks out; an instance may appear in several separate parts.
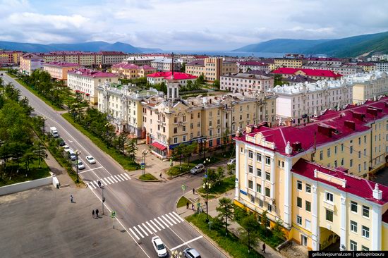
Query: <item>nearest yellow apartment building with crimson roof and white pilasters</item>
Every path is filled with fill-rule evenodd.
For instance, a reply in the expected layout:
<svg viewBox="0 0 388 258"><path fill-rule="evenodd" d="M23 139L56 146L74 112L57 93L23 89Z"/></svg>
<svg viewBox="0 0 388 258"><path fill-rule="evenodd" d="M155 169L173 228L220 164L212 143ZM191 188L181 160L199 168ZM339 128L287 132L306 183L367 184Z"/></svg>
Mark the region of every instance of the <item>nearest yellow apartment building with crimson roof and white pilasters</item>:
<svg viewBox="0 0 388 258"><path fill-rule="evenodd" d="M270 227L283 221L286 237L308 250L337 241L339 250L387 250L388 188L367 180L386 164L387 101L298 128L238 130L235 203L259 218L267 211Z"/></svg>

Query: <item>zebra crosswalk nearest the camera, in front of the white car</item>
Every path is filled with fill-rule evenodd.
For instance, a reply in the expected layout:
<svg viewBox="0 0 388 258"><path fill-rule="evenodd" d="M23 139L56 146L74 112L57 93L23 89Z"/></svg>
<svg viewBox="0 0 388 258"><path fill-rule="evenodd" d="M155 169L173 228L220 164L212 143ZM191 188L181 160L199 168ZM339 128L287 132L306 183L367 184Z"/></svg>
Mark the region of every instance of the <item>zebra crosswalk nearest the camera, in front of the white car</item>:
<svg viewBox="0 0 388 258"><path fill-rule="evenodd" d="M183 222L183 219L175 211L172 211L128 229L134 238L140 240L181 222Z"/></svg>

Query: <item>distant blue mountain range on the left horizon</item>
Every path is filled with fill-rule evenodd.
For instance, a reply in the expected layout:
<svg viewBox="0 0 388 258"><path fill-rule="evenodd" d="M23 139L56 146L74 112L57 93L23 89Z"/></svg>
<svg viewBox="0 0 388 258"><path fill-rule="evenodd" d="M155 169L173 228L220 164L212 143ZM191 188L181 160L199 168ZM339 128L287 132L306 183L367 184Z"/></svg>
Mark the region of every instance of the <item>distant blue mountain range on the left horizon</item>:
<svg viewBox="0 0 388 258"><path fill-rule="evenodd" d="M144 47L133 47L131 44L116 42L110 44L103 41L84 42L75 44L35 44L0 41L0 49L20 50L27 52L48 52L48 51L123 51L125 53L142 53L146 51L162 51L162 49L149 49Z"/></svg>

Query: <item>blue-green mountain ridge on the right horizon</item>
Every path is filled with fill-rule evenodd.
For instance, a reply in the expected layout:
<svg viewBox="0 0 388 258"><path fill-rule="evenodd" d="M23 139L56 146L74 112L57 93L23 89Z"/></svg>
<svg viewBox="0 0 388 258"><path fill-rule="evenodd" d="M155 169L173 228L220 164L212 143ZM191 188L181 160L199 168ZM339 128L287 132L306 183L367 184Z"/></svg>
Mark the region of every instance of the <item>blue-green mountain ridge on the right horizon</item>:
<svg viewBox="0 0 388 258"><path fill-rule="evenodd" d="M388 54L388 32L342 39L272 39L258 44L250 44L234 51L325 54L337 57L366 56L373 53Z"/></svg>

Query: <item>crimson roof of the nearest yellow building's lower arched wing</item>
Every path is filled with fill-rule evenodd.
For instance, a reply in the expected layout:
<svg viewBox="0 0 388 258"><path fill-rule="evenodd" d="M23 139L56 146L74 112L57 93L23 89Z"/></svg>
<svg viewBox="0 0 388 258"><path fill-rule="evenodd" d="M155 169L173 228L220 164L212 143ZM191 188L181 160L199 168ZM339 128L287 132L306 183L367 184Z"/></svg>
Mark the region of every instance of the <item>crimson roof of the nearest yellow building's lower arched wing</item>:
<svg viewBox="0 0 388 258"><path fill-rule="evenodd" d="M327 175L331 175L336 178L346 180L345 188L343 188L342 185L338 185L337 183L333 183L331 181L328 181L322 178L315 178L314 176L315 169ZM367 199L370 202L375 202L380 205L386 204L388 202L387 186L378 185L379 190L382 190L382 199L381 200L375 199L373 198L373 192L372 192L373 189L375 188L375 184L376 184L375 182L366 180L365 178L360 178L358 176L350 175L336 168L327 168L325 166L320 166L319 164L315 164L305 159L299 159L298 161L296 161L296 164L293 164L291 171L298 175L305 176L306 178L310 178L312 180L325 183L327 185L332 185L341 191L348 192L353 195L357 195L359 197Z"/></svg>

